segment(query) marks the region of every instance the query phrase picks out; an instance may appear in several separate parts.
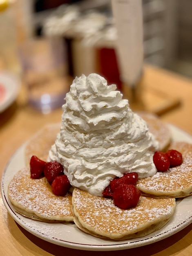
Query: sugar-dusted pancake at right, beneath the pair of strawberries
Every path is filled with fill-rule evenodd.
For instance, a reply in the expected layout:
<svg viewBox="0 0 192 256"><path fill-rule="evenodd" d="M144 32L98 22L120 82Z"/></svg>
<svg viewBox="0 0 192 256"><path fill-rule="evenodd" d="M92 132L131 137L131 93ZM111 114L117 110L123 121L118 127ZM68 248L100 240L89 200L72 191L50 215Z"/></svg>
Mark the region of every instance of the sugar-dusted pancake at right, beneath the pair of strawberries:
<svg viewBox="0 0 192 256"><path fill-rule="evenodd" d="M159 198L192 195L192 144L173 142L170 149L182 153L183 163L166 172L157 172L152 177L139 179L137 187L143 195Z"/></svg>

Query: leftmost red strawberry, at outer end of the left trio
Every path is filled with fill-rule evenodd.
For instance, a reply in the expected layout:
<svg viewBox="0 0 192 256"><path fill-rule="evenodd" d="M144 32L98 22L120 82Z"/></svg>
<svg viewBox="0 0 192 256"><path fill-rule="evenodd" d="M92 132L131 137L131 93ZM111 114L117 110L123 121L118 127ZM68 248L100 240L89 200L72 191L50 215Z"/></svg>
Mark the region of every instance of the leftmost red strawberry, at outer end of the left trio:
<svg viewBox="0 0 192 256"><path fill-rule="evenodd" d="M30 159L30 172L32 179L39 179L43 176L44 168L45 168L45 161L42 161L35 155L33 155Z"/></svg>

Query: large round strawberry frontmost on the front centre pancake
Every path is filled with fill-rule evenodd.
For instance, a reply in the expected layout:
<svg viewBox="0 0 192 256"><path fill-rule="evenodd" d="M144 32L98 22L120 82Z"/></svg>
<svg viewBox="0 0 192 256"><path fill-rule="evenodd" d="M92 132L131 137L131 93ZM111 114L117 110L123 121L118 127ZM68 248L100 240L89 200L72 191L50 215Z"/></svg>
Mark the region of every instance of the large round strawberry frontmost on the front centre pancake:
<svg viewBox="0 0 192 256"><path fill-rule="evenodd" d="M132 184L120 184L113 193L114 204L124 210L136 207L141 191Z"/></svg>

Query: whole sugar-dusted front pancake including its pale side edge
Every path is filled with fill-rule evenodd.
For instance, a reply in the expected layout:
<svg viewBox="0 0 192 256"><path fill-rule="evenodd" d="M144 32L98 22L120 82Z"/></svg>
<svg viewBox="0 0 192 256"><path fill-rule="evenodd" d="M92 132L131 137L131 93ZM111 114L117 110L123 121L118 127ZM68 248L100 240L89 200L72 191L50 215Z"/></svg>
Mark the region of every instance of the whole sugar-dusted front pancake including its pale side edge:
<svg viewBox="0 0 192 256"><path fill-rule="evenodd" d="M141 196L135 208L123 210L109 198L74 189L72 205L74 222L84 232L99 238L126 240L163 227L174 213L175 199Z"/></svg>

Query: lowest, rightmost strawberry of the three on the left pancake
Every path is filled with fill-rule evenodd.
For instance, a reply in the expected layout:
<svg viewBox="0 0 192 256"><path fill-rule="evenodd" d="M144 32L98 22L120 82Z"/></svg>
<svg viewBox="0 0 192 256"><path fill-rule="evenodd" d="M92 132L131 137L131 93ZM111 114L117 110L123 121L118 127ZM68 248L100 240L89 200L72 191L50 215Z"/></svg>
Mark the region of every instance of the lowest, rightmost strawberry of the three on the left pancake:
<svg viewBox="0 0 192 256"><path fill-rule="evenodd" d="M70 189L70 182L65 174L57 176L52 184L52 191L55 195L66 195Z"/></svg>

